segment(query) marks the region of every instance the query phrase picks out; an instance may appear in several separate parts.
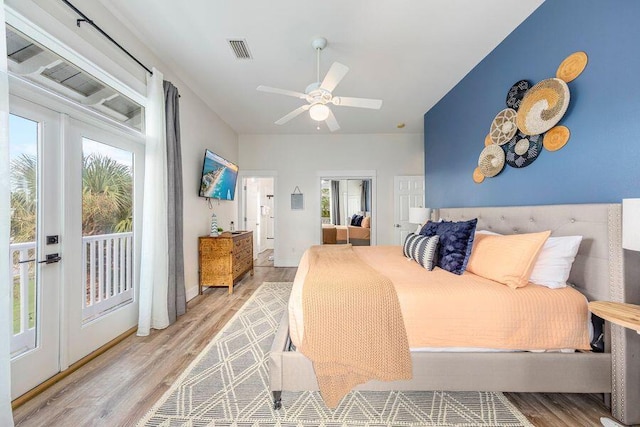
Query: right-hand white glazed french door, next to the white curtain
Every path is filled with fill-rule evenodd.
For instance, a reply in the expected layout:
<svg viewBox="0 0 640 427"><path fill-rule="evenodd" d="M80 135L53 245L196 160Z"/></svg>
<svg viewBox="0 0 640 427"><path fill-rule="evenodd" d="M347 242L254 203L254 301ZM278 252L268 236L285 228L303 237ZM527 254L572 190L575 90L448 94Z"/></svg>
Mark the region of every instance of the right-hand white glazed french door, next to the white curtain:
<svg viewBox="0 0 640 427"><path fill-rule="evenodd" d="M138 322L144 148L108 127L64 121L63 369ZM136 191L139 189L139 191Z"/></svg>

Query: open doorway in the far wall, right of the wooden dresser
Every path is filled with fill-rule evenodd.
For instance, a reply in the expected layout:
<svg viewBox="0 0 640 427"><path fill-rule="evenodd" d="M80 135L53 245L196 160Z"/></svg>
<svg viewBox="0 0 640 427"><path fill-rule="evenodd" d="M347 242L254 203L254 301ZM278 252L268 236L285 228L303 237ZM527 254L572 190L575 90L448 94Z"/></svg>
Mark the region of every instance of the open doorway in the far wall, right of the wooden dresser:
<svg viewBox="0 0 640 427"><path fill-rule="evenodd" d="M253 231L254 267L274 266L275 178L244 176L241 204L242 228Z"/></svg>

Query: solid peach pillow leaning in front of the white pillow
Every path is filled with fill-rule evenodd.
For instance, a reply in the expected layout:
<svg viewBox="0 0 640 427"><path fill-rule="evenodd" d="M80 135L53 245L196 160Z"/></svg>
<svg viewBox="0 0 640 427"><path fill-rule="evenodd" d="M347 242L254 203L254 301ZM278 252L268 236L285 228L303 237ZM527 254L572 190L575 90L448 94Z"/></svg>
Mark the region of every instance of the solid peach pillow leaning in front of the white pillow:
<svg viewBox="0 0 640 427"><path fill-rule="evenodd" d="M467 271L516 289L529 276L551 231L507 236L476 234Z"/></svg>

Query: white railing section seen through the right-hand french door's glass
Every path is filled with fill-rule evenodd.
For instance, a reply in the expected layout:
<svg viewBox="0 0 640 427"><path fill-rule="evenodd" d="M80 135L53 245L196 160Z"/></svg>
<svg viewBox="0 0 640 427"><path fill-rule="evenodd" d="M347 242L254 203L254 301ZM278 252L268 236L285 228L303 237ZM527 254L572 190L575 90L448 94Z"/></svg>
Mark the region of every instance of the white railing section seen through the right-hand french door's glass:
<svg viewBox="0 0 640 427"><path fill-rule="evenodd" d="M83 237L82 265L87 283L84 322L133 300L133 233Z"/></svg>

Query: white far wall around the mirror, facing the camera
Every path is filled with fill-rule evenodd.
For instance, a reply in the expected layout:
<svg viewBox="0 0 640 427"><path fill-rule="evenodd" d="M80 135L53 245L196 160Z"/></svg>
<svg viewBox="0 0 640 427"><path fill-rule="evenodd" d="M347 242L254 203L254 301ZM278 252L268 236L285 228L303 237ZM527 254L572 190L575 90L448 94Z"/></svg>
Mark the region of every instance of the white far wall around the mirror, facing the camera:
<svg viewBox="0 0 640 427"><path fill-rule="evenodd" d="M277 171L275 265L297 266L320 243L320 172L376 171L377 244L393 244L393 177L424 174L422 134L240 135L241 168ZM298 186L304 210L291 210Z"/></svg>

